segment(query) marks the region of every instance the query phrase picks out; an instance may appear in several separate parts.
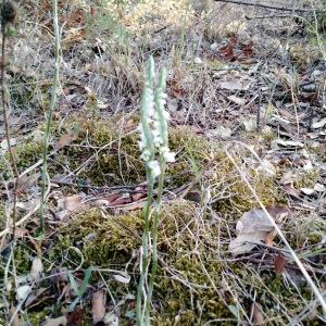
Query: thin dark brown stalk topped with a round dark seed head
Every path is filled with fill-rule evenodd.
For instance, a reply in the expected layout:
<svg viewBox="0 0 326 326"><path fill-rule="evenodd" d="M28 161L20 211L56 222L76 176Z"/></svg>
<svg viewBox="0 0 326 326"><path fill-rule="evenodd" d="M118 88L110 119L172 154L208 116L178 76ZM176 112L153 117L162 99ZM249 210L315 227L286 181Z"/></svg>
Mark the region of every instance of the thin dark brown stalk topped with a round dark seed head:
<svg viewBox="0 0 326 326"><path fill-rule="evenodd" d="M11 2L2 3L1 8L1 34L2 34L2 60L1 60L1 96L2 96L2 110L3 110L3 124L5 130L5 138L8 143L8 151L11 160L11 164L13 167L13 174L15 177L14 180L14 189L13 189L13 209L12 209L12 238L15 237L15 224L16 224L16 205L17 205L17 189L20 183L20 173L17 168L17 164L15 161L15 156L11 146L11 135L9 129L9 112L8 112L8 98L5 91L5 40L7 40L7 25L8 23L12 23L16 16L16 9L13 7ZM9 224L10 225L10 224Z"/></svg>

